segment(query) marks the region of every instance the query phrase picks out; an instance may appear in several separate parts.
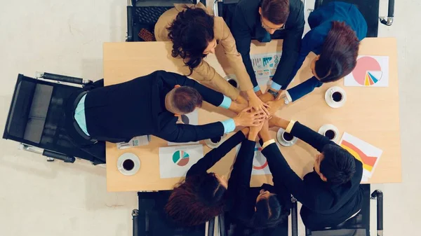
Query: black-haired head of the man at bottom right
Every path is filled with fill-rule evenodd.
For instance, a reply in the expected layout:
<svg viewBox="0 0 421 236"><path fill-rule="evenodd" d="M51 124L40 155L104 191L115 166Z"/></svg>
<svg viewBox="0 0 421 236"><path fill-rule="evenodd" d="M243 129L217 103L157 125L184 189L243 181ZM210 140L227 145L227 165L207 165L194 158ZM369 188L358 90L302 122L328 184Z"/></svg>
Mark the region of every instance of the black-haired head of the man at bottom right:
<svg viewBox="0 0 421 236"><path fill-rule="evenodd" d="M327 144L316 155L314 170L320 179L334 185L347 183L355 173L355 160L347 150L334 144Z"/></svg>

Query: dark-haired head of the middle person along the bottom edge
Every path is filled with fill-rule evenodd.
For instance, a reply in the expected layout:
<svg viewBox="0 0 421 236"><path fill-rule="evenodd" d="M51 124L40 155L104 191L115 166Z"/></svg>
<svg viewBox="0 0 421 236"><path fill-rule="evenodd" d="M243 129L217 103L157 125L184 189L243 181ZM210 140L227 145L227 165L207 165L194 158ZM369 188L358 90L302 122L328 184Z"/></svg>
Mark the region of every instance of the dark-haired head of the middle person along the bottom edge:
<svg viewBox="0 0 421 236"><path fill-rule="evenodd" d="M288 210L284 209L276 194L261 189L256 197L255 214L251 225L253 228L273 228L288 217Z"/></svg>

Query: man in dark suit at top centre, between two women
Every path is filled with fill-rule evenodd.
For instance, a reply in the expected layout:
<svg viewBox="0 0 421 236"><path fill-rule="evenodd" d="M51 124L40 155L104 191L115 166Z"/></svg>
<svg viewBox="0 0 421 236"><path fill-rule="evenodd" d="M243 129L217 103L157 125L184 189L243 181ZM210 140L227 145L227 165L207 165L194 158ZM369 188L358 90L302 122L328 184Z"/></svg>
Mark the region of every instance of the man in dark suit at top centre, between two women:
<svg viewBox="0 0 421 236"><path fill-rule="evenodd" d="M260 42L283 39L282 56L272 78L276 83L289 78L293 71L300 53L304 25L304 6L300 0L241 0L236 5L231 31L257 95L262 95L262 92L250 60L251 39ZM276 90L269 92L274 97L279 95Z"/></svg>

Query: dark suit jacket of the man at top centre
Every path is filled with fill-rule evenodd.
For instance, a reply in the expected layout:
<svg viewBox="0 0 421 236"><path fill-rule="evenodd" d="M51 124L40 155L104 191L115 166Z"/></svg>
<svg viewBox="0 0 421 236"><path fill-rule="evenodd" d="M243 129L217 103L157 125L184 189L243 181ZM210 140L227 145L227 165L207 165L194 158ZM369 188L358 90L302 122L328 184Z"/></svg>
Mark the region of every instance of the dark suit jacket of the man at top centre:
<svg viewBox="0 0 421 236"><path fill-rule="evenodd" d="M253 86L257 86L258 82L250 60L251 39L260 40L262 34L269 34L262 27L262 22L260 21L260 4L259 0L241 0L236 5L231 27L237 50L243 57L243 63L246 65ZM279 29L272 35L272 39L283 39L281 60L274 78L272 78L276 83L281 81L281 78L288 79L293 71L295 61L300 52L304 25L304 6L302 1L290 0L290 14L286 20L285 29Z"/></svg>

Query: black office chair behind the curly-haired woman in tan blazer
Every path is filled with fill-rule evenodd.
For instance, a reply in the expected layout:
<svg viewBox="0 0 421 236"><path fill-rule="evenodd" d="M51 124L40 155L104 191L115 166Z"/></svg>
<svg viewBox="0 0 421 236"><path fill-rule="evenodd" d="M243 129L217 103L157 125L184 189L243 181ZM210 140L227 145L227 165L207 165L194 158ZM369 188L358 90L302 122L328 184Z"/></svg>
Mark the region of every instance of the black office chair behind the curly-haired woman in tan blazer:
<svg viewBox="0 0 421 236"><path fill-rule="evenodd" d="M206 6L206 0L200 0ZM128 42L145 41L140 37L141 30L154 34L159 17L173 4L194 4L196 0L128 0L127 39Z"/></svg>

